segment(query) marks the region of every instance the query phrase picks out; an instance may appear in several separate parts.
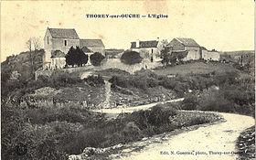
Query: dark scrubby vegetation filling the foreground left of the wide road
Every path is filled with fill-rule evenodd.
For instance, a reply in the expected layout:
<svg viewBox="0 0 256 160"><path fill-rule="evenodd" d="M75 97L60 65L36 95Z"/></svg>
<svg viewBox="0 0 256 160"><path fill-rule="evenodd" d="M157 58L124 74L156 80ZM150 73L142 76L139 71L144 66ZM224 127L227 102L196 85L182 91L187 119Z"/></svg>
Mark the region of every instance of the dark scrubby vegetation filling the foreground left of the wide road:
<svg viewBox="0 0 256 160"><path fill-rule="evenodd" d="M27 145L27 155L20 159L66 159L66 155L82 153L85 147L125 144L182 126L212 122L212 116L194 120L194 114L175 108L161 104L106 121L104 114L80 109L2 106L2 158L16 159L14 147L21 142Z"/></svg>

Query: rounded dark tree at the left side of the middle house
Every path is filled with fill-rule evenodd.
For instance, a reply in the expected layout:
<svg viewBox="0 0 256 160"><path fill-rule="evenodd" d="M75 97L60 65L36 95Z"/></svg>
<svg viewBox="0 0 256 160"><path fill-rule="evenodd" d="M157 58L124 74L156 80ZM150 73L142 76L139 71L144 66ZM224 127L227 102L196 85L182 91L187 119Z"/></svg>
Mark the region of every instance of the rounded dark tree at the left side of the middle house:
<svg viewBox="0 0 256 160"><path fill-rule="evenodd" d="M136 63L141 63L142 62L142 57L140 56L140 54L136 51L125 51L121 57L121 61L124 64L128 64L128 65L133 65Z"/></svg>

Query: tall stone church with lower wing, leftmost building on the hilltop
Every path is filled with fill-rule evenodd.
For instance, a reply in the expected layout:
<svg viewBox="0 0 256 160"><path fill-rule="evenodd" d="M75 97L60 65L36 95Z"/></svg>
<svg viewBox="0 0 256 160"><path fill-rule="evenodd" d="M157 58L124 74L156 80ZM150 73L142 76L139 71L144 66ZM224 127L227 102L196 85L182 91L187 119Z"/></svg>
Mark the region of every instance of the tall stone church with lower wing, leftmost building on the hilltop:
<svg viewBox="0 0 256 160"><path fill-rule="evenodd" d="M63 54L59 53L63 52L66 55L69 48L76 48L77 46L82 48L84 52L86 51L89 56L95 52L100 52L105 56L105 47L101 39L80 39L74 28L48 27L44 37L43 69L62 69L65 66L65 64L63 65L65 56L63 57ZM55 52L57 50L58 52ZM55 55L52 55L53 53Z"/></svg>

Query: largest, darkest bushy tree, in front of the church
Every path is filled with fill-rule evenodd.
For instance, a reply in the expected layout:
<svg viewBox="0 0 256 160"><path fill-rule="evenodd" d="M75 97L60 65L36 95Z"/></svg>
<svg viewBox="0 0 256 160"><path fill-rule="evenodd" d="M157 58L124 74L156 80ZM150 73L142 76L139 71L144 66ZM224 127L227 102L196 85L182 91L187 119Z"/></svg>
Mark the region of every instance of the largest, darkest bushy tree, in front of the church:
<svg viewBox="0 0 256 160"><path fill-rule="evenodd" d="M66 63L70 66L82 66L88 62L88 55L86 55L82 49L77 48L69 48L69 52L66 55Z"/></svg>

